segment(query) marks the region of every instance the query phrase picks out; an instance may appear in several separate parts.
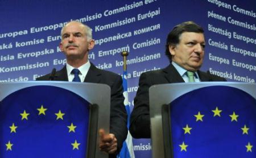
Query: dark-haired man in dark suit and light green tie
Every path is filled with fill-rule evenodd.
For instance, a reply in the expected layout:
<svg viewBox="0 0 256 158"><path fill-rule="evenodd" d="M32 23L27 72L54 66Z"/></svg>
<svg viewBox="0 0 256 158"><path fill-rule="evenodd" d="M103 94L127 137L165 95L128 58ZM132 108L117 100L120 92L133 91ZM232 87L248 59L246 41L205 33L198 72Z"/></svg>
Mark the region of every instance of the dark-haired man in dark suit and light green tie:
<svg viewBox="0 0 256 158"><path fill-rule="evenodd" d="M199 69L204 58L204 30L194 22L178 24L167 36L166 55L170 65L164 69L142 73L130 118L134 138L150 138L148 89L152 85L177 82L226 81Z"/></svg>

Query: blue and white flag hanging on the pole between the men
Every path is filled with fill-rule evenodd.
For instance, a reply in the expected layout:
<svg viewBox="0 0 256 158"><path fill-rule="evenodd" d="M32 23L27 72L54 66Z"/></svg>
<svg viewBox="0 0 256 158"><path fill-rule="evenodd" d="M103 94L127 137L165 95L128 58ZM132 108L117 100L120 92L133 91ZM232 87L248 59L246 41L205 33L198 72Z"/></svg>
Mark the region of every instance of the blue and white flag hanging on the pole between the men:
<svg viewBox="0 0 256 158"><path fill-rule="evenodd" d="M128 100L128 92L127 92L127 72L123 72L123 96L125 97L125 109L128 115L127 121L127 128L129 129L130 124L130 105ZM117 157L120 158L134 158L134 151L133 151L133 137L131 136L130 132L128 131L127 138L125 142L123 142L123 147Z"/></svg>

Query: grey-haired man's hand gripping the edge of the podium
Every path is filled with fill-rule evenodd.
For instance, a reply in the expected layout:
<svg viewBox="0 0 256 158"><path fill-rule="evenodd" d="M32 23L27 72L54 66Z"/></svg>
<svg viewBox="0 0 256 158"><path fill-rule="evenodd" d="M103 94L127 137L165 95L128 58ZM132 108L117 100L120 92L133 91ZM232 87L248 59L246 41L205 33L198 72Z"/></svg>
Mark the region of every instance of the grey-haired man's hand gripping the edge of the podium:
<svg viewBox="0 0 256 158"><path fill-rule="evenodd" d="M117 152L117 139L114 134L105 134L103 129L99 130L100 134L100 151L113 154Z"/></svg>

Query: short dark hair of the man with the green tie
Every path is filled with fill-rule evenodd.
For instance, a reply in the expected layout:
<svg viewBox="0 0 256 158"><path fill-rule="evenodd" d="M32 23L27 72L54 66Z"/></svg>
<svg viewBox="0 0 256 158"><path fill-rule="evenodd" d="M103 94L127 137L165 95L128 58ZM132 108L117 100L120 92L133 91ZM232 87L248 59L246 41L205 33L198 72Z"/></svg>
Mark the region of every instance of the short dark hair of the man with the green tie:
<svg viewBox="0 0 256 158"><path fill-rule="evenodd" d="M204 30L201 26L196 24L195 22L183 22L181 24L177 24L172 31L168 34L166 39L166 56L172 61L172 56L169 51L169 45L176 45L180 43L180 35L183 32L196 32L196 33L204 33Z"/></svg>

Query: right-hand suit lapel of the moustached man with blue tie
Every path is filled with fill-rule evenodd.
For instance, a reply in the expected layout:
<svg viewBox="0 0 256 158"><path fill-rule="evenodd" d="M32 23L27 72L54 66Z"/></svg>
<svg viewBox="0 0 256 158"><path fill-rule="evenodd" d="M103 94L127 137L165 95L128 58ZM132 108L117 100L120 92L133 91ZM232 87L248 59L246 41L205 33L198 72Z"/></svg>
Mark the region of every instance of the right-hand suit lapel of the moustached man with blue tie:
<svg viewBox="0 0 256 158"><path fill-rule="evenodd" d="M84 79L84 82L90 82L90 83L100 83L101 80L101 72L96 66L94 66L92 63L90 63L90 68L88 70L88 73L86 74L86 77Z"/></svg>

